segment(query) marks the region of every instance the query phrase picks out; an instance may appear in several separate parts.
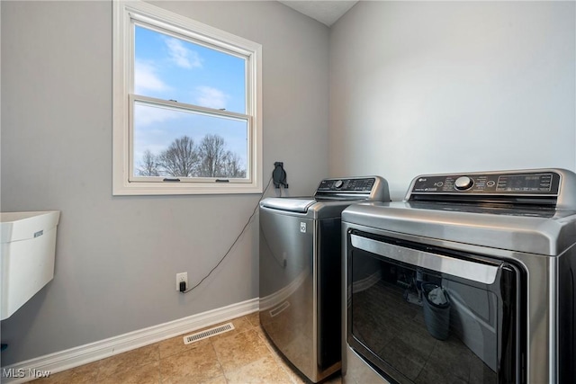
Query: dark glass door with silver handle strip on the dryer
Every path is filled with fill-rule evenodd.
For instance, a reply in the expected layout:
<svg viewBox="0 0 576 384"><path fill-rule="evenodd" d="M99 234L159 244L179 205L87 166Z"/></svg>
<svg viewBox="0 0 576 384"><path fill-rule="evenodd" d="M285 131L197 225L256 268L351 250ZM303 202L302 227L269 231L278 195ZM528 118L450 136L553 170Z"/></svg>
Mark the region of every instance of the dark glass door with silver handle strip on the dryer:
<svg viewBox="0 0 576 384"><path fill-rule="evenodd" d="M521 382L514 265L352 231L346 273L347 343L384 378Z"/></svg>

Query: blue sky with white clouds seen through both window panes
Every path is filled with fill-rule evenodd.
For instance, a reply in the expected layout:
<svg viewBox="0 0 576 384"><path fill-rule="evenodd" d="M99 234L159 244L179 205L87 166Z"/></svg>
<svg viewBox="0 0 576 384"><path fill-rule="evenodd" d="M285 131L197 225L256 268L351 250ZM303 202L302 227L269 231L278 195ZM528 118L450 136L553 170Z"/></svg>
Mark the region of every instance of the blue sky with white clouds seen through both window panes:
<svg viewBox="0 0 576 384"><path fill-rule="evenodd" d="M246 62L199 44L136 26L134 94L246 113ZM175 138L199 143L219 134L243 165L247 156L246 121L214 118L137 103L134 118L134 163L143 152L158 154Z"/></svg>

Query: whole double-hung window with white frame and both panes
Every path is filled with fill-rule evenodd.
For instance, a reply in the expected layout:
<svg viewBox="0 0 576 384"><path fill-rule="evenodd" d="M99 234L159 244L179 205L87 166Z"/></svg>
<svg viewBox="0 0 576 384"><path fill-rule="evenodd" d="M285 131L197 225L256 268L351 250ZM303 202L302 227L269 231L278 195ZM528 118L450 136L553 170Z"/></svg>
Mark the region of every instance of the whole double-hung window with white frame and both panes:
<svg viewBox="0 0 576 384"><path fill-rule="evenodd" d="M113 194L262 192L261 46L114 2Z"/></svg>

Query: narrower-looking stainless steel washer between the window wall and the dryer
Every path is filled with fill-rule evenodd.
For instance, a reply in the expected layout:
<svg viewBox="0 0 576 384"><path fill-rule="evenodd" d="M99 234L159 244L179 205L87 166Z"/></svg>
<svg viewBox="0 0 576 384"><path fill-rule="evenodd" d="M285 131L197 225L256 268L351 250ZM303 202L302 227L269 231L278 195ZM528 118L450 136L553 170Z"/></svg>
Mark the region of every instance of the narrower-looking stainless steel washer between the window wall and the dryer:
<svg viewBox="0 0 576 384"><path fill-rule="evenodd" d="M326 179L313 197L260 202L260 323L313 382L340 369L340 213L357 201L389 201L388 183Z"/></svg>

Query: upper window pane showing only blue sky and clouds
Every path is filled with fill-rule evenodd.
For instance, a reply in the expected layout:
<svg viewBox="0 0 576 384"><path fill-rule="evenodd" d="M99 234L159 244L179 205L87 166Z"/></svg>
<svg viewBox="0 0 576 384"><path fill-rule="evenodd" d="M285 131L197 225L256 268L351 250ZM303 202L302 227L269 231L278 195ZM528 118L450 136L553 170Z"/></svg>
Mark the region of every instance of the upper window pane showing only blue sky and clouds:
<svg viewBox="0 0 576 384"><path fill-rule="evenodd" d="M134 94L246 113L246 59L135 25Z"/></svg>

